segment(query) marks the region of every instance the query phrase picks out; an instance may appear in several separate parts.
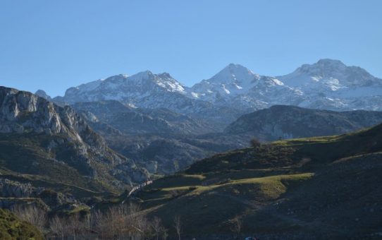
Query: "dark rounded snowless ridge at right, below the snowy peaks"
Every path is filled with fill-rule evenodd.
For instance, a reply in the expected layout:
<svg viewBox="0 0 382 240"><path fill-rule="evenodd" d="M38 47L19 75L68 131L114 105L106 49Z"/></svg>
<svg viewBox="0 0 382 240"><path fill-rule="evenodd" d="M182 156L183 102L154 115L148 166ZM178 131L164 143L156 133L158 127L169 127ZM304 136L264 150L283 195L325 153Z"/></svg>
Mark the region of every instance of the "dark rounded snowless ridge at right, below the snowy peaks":
<svg viewBox="0 0 382 240"><path fill-rule="evenodd" d="M382 112L334 112L296 106L273 105L244 114L224 130L230 134L246 133L259 140L331 136L357 131L382 122Z"/></svg>

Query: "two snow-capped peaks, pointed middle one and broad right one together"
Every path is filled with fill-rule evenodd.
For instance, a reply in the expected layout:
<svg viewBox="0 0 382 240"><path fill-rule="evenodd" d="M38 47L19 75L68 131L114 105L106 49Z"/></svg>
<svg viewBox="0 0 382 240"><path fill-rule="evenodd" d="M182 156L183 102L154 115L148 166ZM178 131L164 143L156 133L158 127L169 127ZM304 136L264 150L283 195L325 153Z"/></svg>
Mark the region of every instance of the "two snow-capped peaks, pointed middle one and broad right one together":
<svg viewBox="0 0 382 240"><path fill-rule="evenodd" d="M318 109L381 110L382 80L363 68L321 59L285 76L259 76L230 64L190 88L190 96L235 108L290 104Z"/></svg>

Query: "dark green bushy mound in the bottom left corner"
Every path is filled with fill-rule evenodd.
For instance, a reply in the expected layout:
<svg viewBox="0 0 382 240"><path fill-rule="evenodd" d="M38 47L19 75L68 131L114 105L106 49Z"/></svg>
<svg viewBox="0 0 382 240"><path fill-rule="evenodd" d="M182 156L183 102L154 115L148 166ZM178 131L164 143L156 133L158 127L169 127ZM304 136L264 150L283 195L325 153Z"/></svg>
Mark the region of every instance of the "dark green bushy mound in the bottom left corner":
<svg viewBox="0 0 382 240"><path fill-rule="evenodd" d="M8 210L0 209L0 239L43 239L36 227L22 222Z"/></svg>

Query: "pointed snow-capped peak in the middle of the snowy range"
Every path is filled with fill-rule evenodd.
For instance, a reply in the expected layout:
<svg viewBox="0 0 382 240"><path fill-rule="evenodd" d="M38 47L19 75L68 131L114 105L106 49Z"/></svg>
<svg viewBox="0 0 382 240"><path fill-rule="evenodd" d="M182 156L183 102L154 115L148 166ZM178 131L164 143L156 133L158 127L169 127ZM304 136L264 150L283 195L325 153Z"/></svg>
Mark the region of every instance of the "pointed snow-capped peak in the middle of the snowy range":
<svg viewBox="0 0 382 240"><path fill-rule="evenodd" d="M272 104L298 104L302 92L281 80L259 76L239 64L229 64L208 80L190 88L190 96L242 110L262 109Z"/></svg>

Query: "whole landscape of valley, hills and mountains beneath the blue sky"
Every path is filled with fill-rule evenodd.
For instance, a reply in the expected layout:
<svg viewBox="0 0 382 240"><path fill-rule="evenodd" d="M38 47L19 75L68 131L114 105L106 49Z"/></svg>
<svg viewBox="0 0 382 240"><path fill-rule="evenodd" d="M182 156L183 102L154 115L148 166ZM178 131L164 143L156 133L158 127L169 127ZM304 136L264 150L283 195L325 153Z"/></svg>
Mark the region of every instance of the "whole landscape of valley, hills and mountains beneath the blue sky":
<svg viewBox="0 0 382 240"><path fill-rule="evenodd" d="M45 237L378 239L381 84L321 59L0 87L0 205Z"/></svg>

